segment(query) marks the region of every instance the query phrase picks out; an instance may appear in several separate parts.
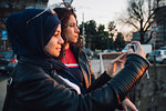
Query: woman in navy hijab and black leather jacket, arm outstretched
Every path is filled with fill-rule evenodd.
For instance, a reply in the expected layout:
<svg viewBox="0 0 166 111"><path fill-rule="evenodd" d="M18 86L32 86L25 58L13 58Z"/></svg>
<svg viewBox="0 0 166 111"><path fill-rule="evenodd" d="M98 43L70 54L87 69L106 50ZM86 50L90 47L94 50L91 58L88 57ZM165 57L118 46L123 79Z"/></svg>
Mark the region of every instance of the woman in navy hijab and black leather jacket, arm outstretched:
<svg viewBox="0 0 166 111"><path fill-rule="evenodd" d="M126 67L105 85L84 94L77 79L58 60L64 41L56 16L27 9L9 16L6 26L19 62L11 73L3 111L110 111L149 67L136 42Z"/></svg>

